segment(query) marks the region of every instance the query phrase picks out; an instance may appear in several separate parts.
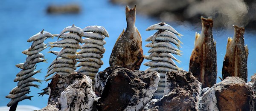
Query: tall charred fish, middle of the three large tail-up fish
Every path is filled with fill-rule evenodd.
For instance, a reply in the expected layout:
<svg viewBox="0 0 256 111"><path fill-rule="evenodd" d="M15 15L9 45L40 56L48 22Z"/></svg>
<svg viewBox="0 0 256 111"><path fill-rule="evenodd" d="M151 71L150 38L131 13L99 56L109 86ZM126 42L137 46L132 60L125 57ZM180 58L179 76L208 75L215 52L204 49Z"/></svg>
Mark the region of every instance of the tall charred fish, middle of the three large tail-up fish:
<svg viewBox="0 0 256 111"><path fill-rule="evenodd" d="M189 71L202 83L202 87L212 87L217 77L216 43L212 36L212 17L201 16L202 31L195 36L195 48L189 61Z"/></svg>

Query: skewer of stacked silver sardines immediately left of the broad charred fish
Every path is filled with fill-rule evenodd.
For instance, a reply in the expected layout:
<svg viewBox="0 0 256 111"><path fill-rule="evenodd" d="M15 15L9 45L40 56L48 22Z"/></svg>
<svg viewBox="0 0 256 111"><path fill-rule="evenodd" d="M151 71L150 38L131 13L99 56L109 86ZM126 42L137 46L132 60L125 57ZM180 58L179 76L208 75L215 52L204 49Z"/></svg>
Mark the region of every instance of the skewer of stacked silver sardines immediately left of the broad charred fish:
<svg viewBox="0 0 256 111"><path fill-rule="evenodd" d="M108 31L102 26L87 26L83 28L82 40L84 43L81 46L81 51L77 52L78 63L76 67L81 67L77 70L82 74L89 76L95 83L95 76L99 71L99 68L103 65L101 58L105 52L106 41L105 37L109 37Z"/></svg>

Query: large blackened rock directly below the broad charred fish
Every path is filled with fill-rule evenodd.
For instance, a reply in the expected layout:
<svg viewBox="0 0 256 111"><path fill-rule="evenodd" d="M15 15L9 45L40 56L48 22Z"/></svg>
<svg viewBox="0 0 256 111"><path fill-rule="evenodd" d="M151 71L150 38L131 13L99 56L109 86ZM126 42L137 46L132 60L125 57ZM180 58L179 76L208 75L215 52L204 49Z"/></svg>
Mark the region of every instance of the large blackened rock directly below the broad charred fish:
<svg viewBox="0 0 256 111"><path fill-rule="evenodd" d="M96 103L99 111L142 110L153 97L160 80L156 71L131 71L118 66L109 67L99 74L106 73L109 77L105 80L105 88Z"/></svg>

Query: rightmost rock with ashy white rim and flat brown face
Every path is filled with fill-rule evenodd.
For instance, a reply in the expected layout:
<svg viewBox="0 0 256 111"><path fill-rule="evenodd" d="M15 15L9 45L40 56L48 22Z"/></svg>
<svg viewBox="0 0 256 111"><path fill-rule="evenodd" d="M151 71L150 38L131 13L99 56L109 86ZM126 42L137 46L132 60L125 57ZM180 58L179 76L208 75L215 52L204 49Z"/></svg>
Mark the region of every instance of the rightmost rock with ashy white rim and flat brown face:
<svg viewBox="0 0 256 111"><path fill-rule="evenodd" d="M239 77L227 77L209 88L199 102L200 111L255 111L252 89Z"/></svg>

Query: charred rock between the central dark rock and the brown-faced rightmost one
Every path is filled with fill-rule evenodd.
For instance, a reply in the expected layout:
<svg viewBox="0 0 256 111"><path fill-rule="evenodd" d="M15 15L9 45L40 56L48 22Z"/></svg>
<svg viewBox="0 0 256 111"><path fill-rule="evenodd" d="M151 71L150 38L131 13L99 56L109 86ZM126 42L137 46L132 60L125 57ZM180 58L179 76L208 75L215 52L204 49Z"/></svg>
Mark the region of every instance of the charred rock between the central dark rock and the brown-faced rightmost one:
<svg viewBox="0 0 256 111"><path fill-rule="evenodd" d="M165 79L165 95L154 107L159 111L198 111L201 83L191 72L167 72Z"/></svg>

